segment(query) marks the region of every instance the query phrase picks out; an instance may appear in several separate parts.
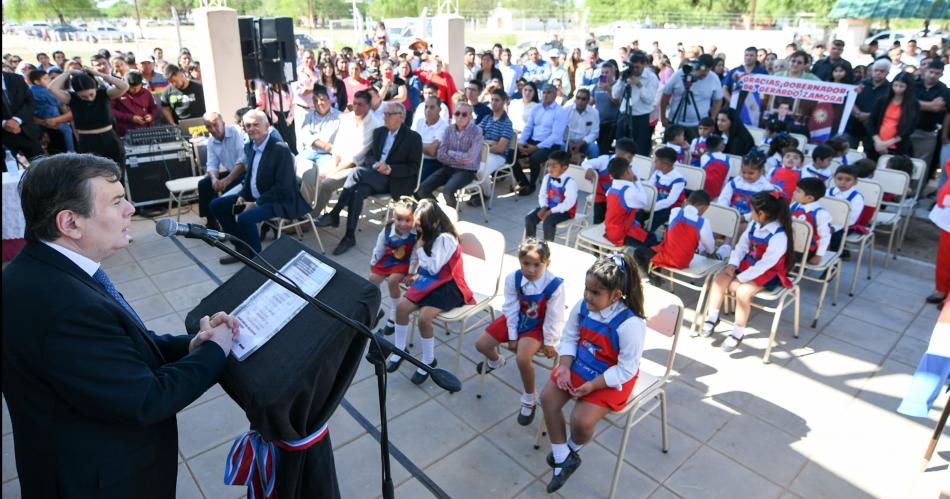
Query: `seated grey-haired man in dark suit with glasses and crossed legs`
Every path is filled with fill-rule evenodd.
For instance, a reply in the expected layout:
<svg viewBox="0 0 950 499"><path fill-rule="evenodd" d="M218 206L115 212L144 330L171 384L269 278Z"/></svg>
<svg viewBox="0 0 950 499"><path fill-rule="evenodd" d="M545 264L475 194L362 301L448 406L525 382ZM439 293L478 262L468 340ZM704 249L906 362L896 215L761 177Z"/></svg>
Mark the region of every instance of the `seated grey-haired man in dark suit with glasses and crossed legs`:
<svg viewBox="0 0 950 499"><path fill-rule="evenodd" d="M402 103L387 103L384 113L386 124L373 130L373 140L362 165L346 178L333 210L317 221L318 227L337 227L340 212L346 208L346 235L333 250L334 255L342 255L356 244L356 225L366 196L388 192L398 199L412 194L416 188L422 162L422 137L406 126L406 107Z"/></svg>

